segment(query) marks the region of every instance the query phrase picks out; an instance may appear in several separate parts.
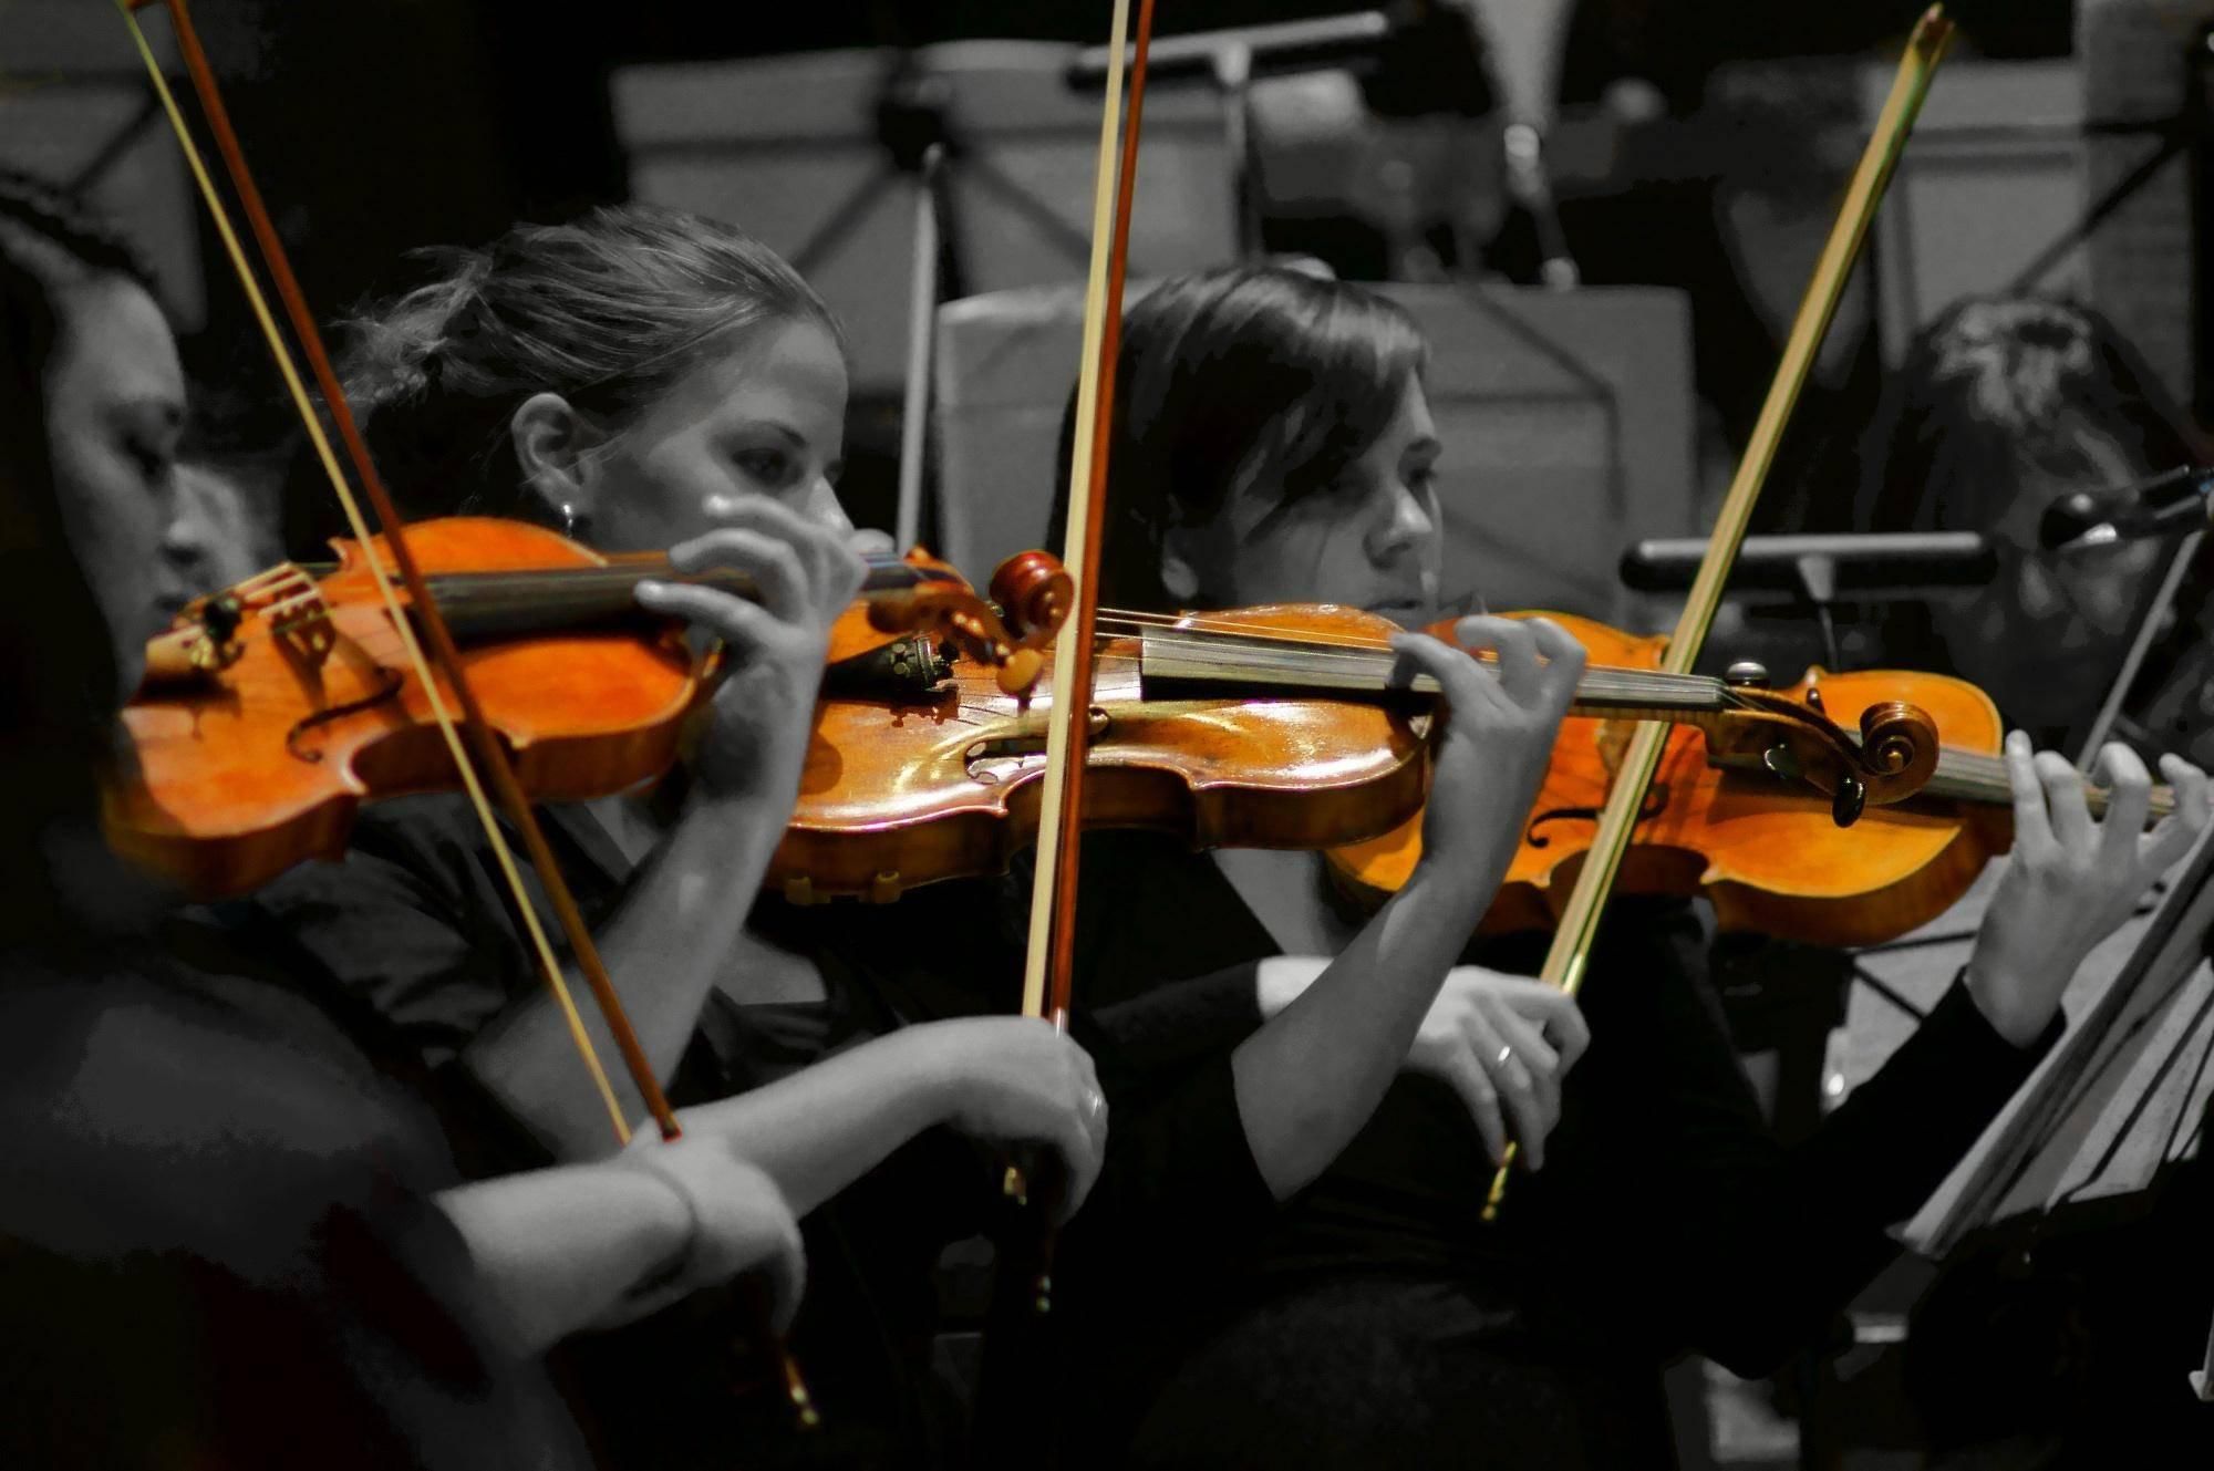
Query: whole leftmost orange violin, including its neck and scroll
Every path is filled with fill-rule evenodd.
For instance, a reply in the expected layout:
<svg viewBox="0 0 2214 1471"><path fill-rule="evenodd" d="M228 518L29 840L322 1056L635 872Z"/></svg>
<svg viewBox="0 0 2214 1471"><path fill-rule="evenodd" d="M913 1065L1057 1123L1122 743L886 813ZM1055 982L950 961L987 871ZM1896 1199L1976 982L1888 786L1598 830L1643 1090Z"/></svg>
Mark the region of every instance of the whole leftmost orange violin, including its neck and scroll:
<svg viewBox="0 0 2214 1471"><path fill-rule="evenodd" d="M600 798L666 771L711 689L715 658L682 620L640 607L638 583L757 596L737 572L602 556L520 521L425 521L407 538L534 802ZM323 576L275 567L201 598L148 645L146 682L124 709L135 762L108 784L106 826L122 853L195 897L339 857L361 802L458 782L363 547L332 545L339 560ZM1018 698L1067 611L1067 574L1025 552L1001 565L992 598L1005 618L921 552L872 558L861 598L832 627L830 669L899 678L956 649Z"/></svg>

